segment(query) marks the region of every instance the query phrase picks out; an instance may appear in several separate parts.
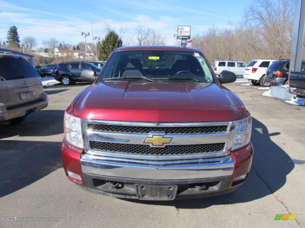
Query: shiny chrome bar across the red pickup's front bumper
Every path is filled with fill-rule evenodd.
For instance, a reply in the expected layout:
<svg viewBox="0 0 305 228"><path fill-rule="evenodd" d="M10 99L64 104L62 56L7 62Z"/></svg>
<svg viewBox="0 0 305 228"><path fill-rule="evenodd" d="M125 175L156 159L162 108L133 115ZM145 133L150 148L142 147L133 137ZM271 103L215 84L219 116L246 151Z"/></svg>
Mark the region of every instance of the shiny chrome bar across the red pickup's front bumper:
<svg viewBox="0 0 305 228"><path fill-rule="evenodd" d="M131 162L144 162L146 164L130 164ZM192 164L194 162L197 164ZM155 162L154 165L154 161L83 154L81 170L84 173L96 175L149 180L211 178L232 175L234 161L231 156L225 156L210 159L180 160L174 161L174 163L173 161L163 160L161 163Z"/></svg>

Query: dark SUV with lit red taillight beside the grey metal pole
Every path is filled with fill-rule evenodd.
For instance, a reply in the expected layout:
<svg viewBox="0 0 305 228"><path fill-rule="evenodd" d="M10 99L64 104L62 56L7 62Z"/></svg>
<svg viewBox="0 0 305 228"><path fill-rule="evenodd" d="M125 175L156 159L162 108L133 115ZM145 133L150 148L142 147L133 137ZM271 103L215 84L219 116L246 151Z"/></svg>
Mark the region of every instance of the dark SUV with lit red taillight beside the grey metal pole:
<svg viewBox="0 0 305 228"><path fill-rule="evenodd" d="M289 75L289 59L282 59L273 62L266 71L264 82L271 85L287 85ZM303 68L305 68L305 61L302 62Z"/></svg>

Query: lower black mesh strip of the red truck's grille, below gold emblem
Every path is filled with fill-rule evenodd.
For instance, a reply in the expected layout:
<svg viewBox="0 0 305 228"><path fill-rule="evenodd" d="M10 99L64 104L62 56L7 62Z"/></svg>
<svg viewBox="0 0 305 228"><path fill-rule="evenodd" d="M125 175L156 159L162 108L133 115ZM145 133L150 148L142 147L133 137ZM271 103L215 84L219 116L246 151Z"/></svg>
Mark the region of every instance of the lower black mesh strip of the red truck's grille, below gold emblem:
<svg viewBox="0 0 305 228"><path fill-rule="evenodd" d="M166 147L150 147L149 145L106 143L89 141L93 150L109 151L113 153L125 154L145 154L145 155L176 155L176 154L203 154L224 150L225 143L195 144L195 145L175 145Z"/></svg>

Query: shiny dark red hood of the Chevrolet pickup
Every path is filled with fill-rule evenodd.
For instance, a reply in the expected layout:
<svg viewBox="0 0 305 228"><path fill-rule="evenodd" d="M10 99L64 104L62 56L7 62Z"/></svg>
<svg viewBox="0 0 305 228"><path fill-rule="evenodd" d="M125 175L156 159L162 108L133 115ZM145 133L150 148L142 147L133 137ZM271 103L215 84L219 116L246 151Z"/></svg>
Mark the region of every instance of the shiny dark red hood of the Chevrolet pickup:
<svg viewBox="0 0 305 228"><path fill-rule="evenodd" d="M73 109L83 119L139 122L231 121L241 119L242 112L226 88L195 82L100 82Z"/></svg>

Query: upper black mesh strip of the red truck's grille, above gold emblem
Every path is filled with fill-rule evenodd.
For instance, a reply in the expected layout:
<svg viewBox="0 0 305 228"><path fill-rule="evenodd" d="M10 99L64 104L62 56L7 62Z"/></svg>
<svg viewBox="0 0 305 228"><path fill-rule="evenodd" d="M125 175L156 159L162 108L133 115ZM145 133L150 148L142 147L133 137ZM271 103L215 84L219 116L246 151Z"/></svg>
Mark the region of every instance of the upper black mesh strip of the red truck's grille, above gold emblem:
<svg viewBox="0 0 305 228"><path fill-rule="evenodd" d="M118 126L88 123L88 129L107 132L127 132L127 133L149 133L166 132L167 134L192 134L192 133L217 133L226 132L227 125L218 126L198 126L198 127L143 127L143 126Z"/></svg>

